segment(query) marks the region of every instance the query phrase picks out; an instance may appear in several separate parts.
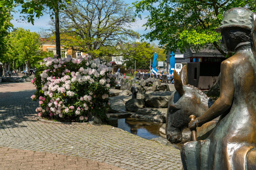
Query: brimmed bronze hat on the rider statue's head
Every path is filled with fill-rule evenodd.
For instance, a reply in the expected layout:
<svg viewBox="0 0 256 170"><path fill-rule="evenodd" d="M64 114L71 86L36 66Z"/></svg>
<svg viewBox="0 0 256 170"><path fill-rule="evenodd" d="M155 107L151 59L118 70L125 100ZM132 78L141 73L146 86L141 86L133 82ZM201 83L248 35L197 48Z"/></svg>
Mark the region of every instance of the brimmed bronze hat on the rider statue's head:
<svg viewBox="0 0 256 170"><path fill-rule="evenodd" d="M223 15L223 20L220 23L220 27L215 31L220 33L223 29L238 27L243 29L252 29L252 11L246 8L232 8L227 10Z"/></svg>

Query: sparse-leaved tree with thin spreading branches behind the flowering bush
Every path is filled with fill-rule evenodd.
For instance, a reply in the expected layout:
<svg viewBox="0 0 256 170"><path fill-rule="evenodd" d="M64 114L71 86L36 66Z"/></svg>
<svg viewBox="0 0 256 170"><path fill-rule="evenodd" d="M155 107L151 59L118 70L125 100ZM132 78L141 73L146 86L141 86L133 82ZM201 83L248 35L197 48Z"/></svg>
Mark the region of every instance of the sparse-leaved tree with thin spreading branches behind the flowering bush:
<svg viewBox="0 0 256 170"><path fill-rule="evenodd" d="M123 0L73 0L61 11L62 45L92 56L108 55L117 42L137 35L130 29L134 18L127 6Z"/></svg>

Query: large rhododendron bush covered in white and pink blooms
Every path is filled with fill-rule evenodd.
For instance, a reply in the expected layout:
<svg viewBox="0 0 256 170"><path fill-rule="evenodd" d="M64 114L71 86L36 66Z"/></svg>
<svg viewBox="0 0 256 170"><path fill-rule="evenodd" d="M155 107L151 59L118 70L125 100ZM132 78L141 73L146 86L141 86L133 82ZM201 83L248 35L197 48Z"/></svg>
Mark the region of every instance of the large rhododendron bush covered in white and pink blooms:
<svg viewBox="0 0 256 170"><path fill-rule="evenodd" d="M115 86L110 71L111 64L88 55L57 59L45 58L31 81L36 85L33 100L39 100L36 108L39 116L88 120L89 113L101 119L108 110L108 94Z"/></svg>

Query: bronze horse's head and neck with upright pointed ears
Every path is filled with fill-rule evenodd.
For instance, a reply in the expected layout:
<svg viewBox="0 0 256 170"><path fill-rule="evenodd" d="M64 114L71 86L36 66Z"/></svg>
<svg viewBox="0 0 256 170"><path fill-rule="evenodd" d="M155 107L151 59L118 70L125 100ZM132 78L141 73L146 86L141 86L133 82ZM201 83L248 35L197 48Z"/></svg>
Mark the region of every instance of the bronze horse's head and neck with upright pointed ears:
<svg viewBox="0 0 256 170"><path fill-rule="evenodd" d="M180 76L174 70L175 91L170 95L166 116L166 138L170 143L178 144L190 141L188 135L183 134L188 128L190 115L200 117L213 104L211 98L198 88L187 84L188 74L186 65L182 67ZM215 127L218 118L197 128L198 140L206 139Z"/></svg>

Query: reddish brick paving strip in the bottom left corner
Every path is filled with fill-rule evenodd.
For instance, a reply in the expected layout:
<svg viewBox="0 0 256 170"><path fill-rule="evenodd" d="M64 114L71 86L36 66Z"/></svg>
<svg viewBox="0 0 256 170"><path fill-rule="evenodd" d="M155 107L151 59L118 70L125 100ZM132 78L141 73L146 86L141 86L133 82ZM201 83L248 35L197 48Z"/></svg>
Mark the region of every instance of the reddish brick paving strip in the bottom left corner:
<svg viewBox="0 0 256 170"><path fill-rule="evenodd" d="M1 170L124 170L117 166L60 154L0 148Z"/></svg>

